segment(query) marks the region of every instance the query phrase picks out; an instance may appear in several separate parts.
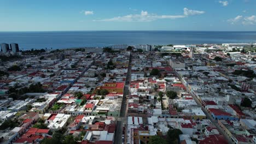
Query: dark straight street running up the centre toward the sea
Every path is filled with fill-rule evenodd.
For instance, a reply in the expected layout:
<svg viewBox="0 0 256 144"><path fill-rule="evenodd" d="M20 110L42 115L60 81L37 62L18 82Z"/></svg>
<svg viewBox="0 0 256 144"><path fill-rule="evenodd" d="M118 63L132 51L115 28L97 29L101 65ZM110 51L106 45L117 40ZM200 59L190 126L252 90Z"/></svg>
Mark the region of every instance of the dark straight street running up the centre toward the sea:
<svg viewBox="0 0 256 144"><path fill-rule="evenodd" d="M126 81L125 81L125 87L124 87L124 96L123 101L120 109L120 117L117 118L117 127L115 129L115 139L114 144L120 144L122 143L122 135L123 135L123 123L126 123L127 121L127 99L126 95L129 95L129 87L131 83L131 61L132 61L132 55L130 55L129 58L129 67L127 70L126 75Z"/></svg>

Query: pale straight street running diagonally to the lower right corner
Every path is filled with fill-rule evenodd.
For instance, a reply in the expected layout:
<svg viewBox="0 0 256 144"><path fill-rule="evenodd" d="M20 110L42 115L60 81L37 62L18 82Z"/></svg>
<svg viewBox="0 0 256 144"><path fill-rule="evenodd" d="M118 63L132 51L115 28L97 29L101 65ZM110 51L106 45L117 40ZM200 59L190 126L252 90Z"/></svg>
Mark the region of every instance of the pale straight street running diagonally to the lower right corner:
<svg viewBox="0 0 256 144"><path fill-rule="evenodd" d="M210 121L215 125L215 127L219 130L220 134L222 134L222 135L225 137L225 139L226 139L229 143L232 143L232 141L229 139L229 137L224 133L223 129L219 127L218 121L216 121L216 120L214 120L214 119L212 118L212 116L210 115L210 113L208 113L208 112L206 111L205 107L202 106L202 104L200 103L199 100L197 100L197 98L195 97L195 95L189 91L189 88L184 84L184 81L181 79L181 77L177 74L176 71L175 71L175 74L176 74L176 76L179 78L179 81L182 82L182 84L186 87L187 91L190 93L190 95L191 95L191 96L193 97L193 99L196 101L197 105L201 106L201 109L202 109L202 111L205 113L206 117L207 117L208 119L210 119Z"/></svg>

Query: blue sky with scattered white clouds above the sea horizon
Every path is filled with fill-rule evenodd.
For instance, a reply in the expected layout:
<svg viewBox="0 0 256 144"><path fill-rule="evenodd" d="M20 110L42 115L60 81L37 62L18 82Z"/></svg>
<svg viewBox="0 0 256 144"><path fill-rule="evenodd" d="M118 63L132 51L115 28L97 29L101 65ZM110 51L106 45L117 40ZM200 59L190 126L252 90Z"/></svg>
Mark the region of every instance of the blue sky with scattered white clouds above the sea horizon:
<svg viewBox="0 0 256 144"><path fill-rule="evenodd" d="M256 31L256 0L0 0L0 31Z"/></svg>

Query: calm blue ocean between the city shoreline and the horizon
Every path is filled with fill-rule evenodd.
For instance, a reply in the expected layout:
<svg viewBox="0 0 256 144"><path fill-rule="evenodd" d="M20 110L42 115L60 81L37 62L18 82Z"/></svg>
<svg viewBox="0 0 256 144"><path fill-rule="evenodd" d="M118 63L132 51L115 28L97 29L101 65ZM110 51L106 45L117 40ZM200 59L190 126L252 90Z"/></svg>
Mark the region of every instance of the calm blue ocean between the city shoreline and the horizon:
<svg viewBox="0 0 256 144"><path fill-rule="evenodd" d="M0 32L0 43L18 43L20 50L105 47L115 44L256 43L256 32L207 31L60 31Z"/></svg>

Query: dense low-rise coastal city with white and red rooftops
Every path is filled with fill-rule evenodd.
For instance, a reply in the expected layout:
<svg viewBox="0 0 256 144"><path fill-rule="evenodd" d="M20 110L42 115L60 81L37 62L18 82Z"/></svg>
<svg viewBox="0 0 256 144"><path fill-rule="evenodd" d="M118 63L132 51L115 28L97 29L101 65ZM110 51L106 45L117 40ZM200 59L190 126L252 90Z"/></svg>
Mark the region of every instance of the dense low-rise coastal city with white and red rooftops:
<svg viewBox="0 0 256 144"><path fill-rule="evenodd" d="M256 44L0 55L0 143L256 143Z"/></svg>

